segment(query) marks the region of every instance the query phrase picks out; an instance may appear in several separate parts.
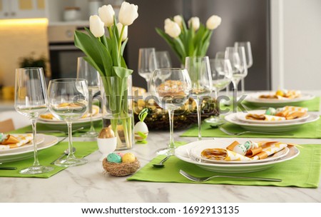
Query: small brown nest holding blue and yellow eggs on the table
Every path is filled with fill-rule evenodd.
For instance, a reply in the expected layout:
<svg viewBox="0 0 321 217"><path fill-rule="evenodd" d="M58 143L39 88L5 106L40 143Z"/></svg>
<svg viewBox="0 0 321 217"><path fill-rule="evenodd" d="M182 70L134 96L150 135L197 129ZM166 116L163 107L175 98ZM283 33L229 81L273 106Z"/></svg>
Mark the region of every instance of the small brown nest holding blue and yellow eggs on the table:
<svg viewBox="0 0 321 217"><path fill-rule="evenodd" d="M141 163L137 158L131 163L112 163L103 158L103 169L111 176L128 176L138 171L140 167Z"/></svg>

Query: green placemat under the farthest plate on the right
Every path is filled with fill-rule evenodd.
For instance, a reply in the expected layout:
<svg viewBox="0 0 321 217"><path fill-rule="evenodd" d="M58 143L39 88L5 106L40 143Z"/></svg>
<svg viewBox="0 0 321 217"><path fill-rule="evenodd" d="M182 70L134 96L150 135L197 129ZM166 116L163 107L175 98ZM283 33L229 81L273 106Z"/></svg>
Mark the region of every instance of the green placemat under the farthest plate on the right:
<svg viewBox="0 0 321 217"><path fill-rule="evenodd" d="M245 109L260 109L262 108L261 106L255 106L255 104L252 104L248 101L243 101L242 104L245 106ZM309 111L320 111L320 96L315 97L314 99L310 99L308 101L302 101L295 106L300 106L300 107L305 107ZM220 109L230 109L232 110L232 106L224 106L221 105Z"/></svg>

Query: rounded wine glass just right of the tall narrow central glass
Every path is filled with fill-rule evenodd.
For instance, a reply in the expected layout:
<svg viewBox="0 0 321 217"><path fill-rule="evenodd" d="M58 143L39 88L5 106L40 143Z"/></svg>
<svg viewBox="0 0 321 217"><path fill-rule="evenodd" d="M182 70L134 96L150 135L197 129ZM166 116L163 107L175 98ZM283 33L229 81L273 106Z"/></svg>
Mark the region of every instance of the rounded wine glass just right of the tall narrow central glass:
<svg viewBox="0 0 321 217"><path fill-rule="evenodd" d="M232 80L232 66L228 59L210 59L210 71L212 72L213 92L216 100L215 110L218 112L217 116L210 118L212 123L223 123L220 118L220 101L218 100L219 92L230 85Z"/></svg>

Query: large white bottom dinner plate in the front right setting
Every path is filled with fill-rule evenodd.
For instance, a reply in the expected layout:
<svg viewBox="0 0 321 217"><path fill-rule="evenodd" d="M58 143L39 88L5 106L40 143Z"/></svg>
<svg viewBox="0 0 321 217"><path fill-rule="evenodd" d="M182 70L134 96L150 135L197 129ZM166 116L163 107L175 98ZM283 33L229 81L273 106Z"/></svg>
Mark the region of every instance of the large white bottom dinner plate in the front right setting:
<svg viewBox="0 0 321 217"><path fill-rule="evenodd" d="M195 141L192 143L188 143L184 146L179 146L175 149L175 156L182 161L193 163L200 168L203 168L208 171L215 171L220 173L250 173L255 171L263 171L267 168L271 168L275 166L277 163L281 163L284 161L289 161L292 158L295 158L299 155L300 151L295 147L291 146L289 148L289 152L286 156L276 159L275 161L266 161L263 163L205 163L194 161L190 158L190 149L195 146L200 145L201 143L225 143L229 144L234 141L233 138L216 138L215 140L203 140L203 141ZM239 142L248 141L245 138L238 138Z"/></svg>

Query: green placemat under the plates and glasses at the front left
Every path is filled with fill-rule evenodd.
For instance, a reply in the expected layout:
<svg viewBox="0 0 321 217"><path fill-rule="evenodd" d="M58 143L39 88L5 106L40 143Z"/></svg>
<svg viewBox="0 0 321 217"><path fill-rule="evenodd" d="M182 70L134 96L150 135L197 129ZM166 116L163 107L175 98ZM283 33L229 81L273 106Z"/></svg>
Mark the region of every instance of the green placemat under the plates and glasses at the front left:
<svg viewBox="0 0 321 217"><path fill-rule="evenodd" d="M94 151L98 150L98 146L96 142L73 142L73 146L76 148L75 156L78 158L83 158L85 156L88 156L89 154L93 153ZM50 148L46 148L44 150L39 151L38 158L39 163L41 165L50 165L50 163L63 153L63 151L68 148L67 142L61 142L58 143L55 146L51 146ZM54 167L53 171L50 171L49 173L42 173L37 175L25 175L20 174L19 171L22 168L26 168L29 166L32 166L32 163L34 163L34 158L28 158L21 161L14 161L14 162L8 162L8 163L2 163L1 166L14 166L17 168L15 171L6 171L6 170L0 170L0 177L35 177L35 178L49 178L51 176L54 176L54 174L58 173L59 171L62 171L65 169L64 167L59 167L55 165L50 165Z"/></svg>

